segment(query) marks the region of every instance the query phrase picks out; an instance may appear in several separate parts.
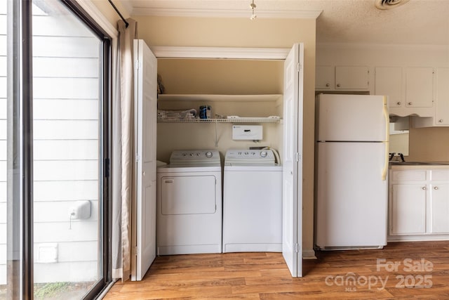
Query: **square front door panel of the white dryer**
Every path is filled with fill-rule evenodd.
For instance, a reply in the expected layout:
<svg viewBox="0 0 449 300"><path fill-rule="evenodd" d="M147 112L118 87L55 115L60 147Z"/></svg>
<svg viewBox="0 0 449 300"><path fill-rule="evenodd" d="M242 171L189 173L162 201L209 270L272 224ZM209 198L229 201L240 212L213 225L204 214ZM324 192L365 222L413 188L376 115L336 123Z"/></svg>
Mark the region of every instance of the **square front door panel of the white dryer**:
<svg viewBox="0 0 449 300"><path fill-rule="evenodd" d="M161 178L161 213L214 214L216 179L213 175Z"/></svg>

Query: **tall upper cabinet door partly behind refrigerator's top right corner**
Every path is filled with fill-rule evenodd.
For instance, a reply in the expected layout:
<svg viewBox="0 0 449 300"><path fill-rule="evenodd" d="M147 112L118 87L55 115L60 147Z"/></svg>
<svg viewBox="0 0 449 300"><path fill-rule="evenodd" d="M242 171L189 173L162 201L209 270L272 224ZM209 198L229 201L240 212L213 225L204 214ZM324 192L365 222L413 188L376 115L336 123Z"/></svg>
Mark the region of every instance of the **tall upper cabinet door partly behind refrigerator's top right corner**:
<svg viewBox="0 0 449 300"><path fill-rule="evenodd" d="M375 68L375 95L388 96L388 107L402 107L402 68Z"/></svg>

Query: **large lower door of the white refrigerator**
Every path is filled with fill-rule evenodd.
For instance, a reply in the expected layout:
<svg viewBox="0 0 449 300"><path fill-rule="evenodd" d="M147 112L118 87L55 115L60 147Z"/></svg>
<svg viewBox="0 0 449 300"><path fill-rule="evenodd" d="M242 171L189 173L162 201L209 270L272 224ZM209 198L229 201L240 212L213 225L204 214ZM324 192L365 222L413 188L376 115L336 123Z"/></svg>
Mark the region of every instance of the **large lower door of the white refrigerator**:
<svg viewBox="0 0 449 300"><path fill-rule="evenodd" d="M318 143L319 248L377 248L387 244L384 147L384 143Z"/></svg>

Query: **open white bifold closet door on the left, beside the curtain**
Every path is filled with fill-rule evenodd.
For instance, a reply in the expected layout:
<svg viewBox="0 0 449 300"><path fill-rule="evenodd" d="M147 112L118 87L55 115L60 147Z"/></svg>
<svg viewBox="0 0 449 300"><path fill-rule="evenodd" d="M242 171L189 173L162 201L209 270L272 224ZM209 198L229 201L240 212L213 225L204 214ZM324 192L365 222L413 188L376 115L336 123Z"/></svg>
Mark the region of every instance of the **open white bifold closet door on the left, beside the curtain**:
<svg viewBox="0 0 449 300"><path fill-rule="evenodd" d="M131 280L142 280L156 258L157 60L145 41L134 40L137 199Z"/></svg>

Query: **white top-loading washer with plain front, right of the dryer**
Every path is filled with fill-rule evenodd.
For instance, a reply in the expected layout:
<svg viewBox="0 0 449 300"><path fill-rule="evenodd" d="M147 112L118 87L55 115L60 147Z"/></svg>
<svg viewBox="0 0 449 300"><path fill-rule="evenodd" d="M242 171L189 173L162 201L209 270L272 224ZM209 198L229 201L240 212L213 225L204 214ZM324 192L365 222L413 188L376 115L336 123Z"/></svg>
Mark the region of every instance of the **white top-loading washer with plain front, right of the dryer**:
<svg viewBox="0 0 449 300"><path fill-rule="evenodd" d="M223 252L282 252L282 167L272 150L228 150Z"/></svg>

